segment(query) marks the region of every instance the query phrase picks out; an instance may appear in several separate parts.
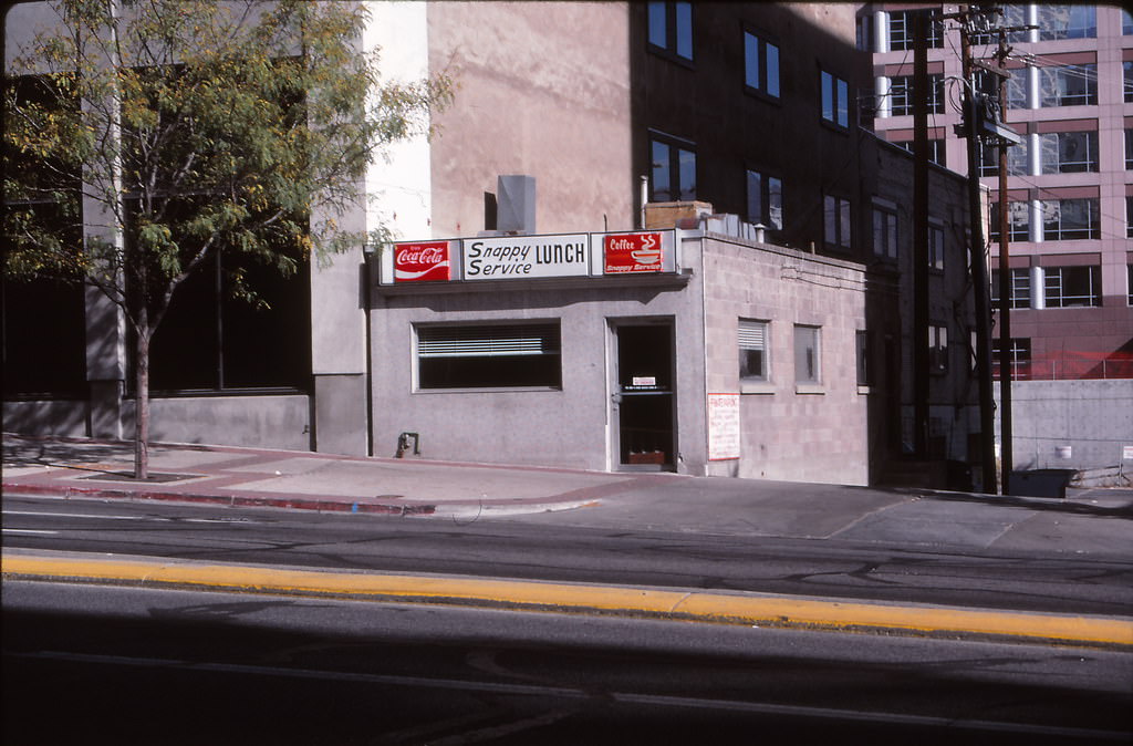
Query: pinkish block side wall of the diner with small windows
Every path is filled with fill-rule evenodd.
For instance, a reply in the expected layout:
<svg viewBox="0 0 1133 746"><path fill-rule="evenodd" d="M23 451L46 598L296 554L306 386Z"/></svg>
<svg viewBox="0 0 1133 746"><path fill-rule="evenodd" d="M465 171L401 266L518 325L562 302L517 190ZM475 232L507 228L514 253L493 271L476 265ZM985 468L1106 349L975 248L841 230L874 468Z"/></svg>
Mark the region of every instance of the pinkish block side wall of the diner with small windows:
<svg viewBox="0 0 1133 746"><path fill-rule="evenodd" d="M709 472L866 484L867 397L855 376L855 332L866 328L863 268L793 249L710 240L705 283L708 391L742 392L742 458L715 461ZM765 385L741 385L740 317L769 322ZM817 387L795 384L794 324L820 328Z"/></svg>

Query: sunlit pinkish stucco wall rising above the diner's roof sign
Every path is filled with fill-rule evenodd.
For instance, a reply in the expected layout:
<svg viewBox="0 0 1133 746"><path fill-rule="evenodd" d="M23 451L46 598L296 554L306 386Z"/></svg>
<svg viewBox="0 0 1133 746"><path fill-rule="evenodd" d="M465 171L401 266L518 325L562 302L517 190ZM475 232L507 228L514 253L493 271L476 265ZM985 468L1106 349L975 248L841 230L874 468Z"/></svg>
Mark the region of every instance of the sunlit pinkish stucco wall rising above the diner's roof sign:
<svg viewBox="0 0 1133 746"><path fill-rule="evenodd" d="M483 230L510 173L536 178L540 234L636 227L628 24L615 2L428 3L429 68L458 85L435 119L434 237Z"/></svg>

